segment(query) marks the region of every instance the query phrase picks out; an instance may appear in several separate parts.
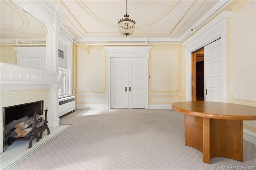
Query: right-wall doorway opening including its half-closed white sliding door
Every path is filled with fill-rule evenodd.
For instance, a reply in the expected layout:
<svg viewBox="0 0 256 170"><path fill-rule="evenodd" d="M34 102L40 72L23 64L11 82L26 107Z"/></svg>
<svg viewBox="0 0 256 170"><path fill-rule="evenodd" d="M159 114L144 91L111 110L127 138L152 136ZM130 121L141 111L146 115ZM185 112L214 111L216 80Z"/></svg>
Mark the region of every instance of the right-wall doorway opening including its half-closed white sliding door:
<svg viewBox="0 0 256 170"><path fill-rule="evenodd" d="M221 38L192 53L192 101L224 101Z"/></svg>

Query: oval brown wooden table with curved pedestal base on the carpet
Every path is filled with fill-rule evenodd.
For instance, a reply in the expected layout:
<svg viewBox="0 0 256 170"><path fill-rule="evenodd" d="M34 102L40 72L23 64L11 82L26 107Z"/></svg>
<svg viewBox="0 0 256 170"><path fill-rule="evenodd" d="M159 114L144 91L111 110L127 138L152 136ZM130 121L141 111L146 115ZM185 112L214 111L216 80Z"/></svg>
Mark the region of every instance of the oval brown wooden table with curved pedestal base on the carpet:
<svg viewBox="0 0 256 170"><path fill-rule="evenodd" d="M185 101L172 104L185 113L185 145L203 152L203 161L214 157L243 162L243 121L256 120L256 107L233 103Z"/></svg>

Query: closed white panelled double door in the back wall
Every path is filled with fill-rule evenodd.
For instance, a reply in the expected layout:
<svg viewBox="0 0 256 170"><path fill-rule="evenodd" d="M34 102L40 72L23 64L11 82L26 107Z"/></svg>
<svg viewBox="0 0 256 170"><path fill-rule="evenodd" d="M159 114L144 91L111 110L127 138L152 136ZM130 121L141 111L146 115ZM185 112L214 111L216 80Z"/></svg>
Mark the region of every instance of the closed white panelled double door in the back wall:
<svg viewBox="0 0 256 170"><path fill-rule="evenodd" d="M145 108L145 58L114 57L110 65L111 108Z"/></svg>

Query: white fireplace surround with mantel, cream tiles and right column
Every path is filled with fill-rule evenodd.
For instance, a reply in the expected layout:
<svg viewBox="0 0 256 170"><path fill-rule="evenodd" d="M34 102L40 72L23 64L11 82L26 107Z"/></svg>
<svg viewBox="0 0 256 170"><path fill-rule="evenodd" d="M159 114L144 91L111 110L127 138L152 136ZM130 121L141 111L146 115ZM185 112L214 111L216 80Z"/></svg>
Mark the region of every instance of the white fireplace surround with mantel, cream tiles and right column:
<svg viewBox="0 0 256 170"><path fill-rule="evenodd" d="M48 109L48 127L59 126L58 72L45 71L0 63L0 128L3 129L3 107L44 101L43 110ZM3 130L0 130L0 153L3 152Z"/></svg>

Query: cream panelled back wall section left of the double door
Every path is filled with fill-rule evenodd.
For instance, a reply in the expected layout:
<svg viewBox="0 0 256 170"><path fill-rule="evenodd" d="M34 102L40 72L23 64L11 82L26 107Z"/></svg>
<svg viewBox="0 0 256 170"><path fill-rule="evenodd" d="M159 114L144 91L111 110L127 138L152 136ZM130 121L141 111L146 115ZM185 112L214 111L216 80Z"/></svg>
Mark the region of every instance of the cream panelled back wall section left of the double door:
<svg viewBox="0 0 256 170"><path fill-rule="evenodd" d="M102 45L77 45L77 109L107 109L107 58Z"/></svg>

